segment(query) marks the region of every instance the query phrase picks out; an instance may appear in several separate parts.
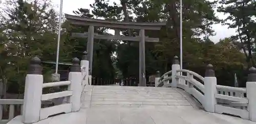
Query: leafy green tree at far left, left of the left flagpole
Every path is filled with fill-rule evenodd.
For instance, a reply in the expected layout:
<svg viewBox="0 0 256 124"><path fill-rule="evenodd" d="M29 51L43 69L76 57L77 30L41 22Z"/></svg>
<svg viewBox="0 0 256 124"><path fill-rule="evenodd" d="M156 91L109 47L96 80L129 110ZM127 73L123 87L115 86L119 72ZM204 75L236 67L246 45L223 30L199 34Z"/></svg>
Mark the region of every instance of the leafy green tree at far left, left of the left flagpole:
<svg viewBox="0 0 256 124"><path fill-rule="evenodd" d="M2 18L6 40L2 43L8 53L4 57L8 60L3 64L11 66L13 70L1 65L3 71L12 70L10 77L6 76L6 73L1 75L3 80L20 86L20 92L23 92L29 60L35 56L40 57L42 61L55 58L57 15L48 0L8 0L4 7ZM51 68L45 67L44 72L50 74ZM48 76L45 78L48 79Z"/></svg>

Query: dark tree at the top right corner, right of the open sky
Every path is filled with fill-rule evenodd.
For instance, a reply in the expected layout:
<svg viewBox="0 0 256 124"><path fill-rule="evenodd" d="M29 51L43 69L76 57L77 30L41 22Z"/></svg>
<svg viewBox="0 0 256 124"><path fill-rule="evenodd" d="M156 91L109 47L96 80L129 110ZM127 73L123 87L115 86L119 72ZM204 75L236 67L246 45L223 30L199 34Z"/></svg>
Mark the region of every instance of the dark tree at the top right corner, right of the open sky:
<svg viewBox="0 0 256 124"><path fill-rule="evenodd" d="M237 35L232 36L232 39L237 42L237 45L243 50L246 56L246 62L249 68L255 66L255 60L252 59L252 53L255 50L256 37L256 1L234 1L222 0L219 1L221 6L218 8L219 12L229 14L223 23L227 24L229 28L237 29Z"/></svg>

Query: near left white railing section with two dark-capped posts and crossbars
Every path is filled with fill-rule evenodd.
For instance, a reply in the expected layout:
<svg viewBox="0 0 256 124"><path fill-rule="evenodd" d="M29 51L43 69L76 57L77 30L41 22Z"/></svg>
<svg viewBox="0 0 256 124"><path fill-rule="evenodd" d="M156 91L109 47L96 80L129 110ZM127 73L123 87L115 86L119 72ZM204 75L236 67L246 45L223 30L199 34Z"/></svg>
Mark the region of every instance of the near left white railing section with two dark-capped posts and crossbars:
<svg viewBox="0 0 256 124"><path fill-rule="evenodd" d="M69 72L69 81L43 83L41 75L42 67L39 65L40 59L35 57L31 60L29 73L26 76L23 123L33 123L46 119L51 115L59 113L76 112L80 109L80 96L82 77L80 60L74 58ZM83 67L82 67L83 68ZM84 76L84 75L83 75ZM68 90L42 94L42 89L47 87L68 86ZM68 97L68 102L52 107L41 108L41 103L54 98Z"/></svg>

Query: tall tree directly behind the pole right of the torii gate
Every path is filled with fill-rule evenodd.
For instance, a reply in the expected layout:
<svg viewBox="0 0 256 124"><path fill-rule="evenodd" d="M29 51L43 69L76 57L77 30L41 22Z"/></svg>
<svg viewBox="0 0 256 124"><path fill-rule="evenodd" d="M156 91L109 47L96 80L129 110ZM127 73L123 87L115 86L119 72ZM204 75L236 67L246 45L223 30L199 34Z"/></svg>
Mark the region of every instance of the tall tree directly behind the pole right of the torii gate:
<svg viewBox="0 0 256 124"><path fill-rule="evenodd" d="M152 0L151 2L155 5L153 7L156 8L151 9L152 13L158 13L158 16L167 21L167 29L165 35L162 36L162 42L156 45L157 53L161 55L159 59L165 59L167 62L171 62L173 56L179 55L179 41L181 37L180 1ZM218 22L219 19L214 13L216 2L183 1L182 4L183 58L184 62L186 62L186 58L191 56L191 53L187 52L187 50L197 48L193 47L195 45L191 46L191 44L195 44L194 42L200 42L201 40L199 40L198 37L201 35L214 35L211 24ZM172 47L173 49L170 49L169 47ZM164 65L166 67L170 66L167 63L164 63ZM186 66L185 63L183 63L183 65L184 67Z"/></svg>

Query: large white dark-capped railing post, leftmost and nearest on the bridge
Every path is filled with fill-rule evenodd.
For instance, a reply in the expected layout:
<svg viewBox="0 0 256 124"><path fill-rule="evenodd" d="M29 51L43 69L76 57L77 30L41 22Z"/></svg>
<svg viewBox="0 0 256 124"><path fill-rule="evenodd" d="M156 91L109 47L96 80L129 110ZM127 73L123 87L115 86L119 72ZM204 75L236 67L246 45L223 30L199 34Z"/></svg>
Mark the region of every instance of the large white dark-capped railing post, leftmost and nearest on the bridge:
<svg viewBox="0 0 256 124"><path fill-rule="evenodd" d="M34 123L39 121L42 95L42 67L41 60L34 57L29 65L28 75L25 81L23 123Z"/></svg>

